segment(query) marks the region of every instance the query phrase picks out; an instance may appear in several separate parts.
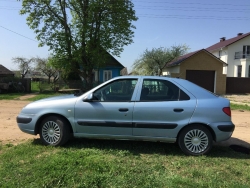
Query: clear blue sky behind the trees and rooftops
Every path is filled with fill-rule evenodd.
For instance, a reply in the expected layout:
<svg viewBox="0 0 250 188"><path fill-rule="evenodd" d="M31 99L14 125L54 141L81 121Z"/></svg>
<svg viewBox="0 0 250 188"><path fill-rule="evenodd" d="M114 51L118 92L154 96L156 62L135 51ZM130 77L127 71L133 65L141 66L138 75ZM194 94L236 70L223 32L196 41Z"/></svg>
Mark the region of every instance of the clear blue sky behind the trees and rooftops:
<svg viewBox="0 0 250 188"><path fill-rule="evenodd" d="M221 37L250 32L250 0L132 0L138 21L133 43L115 58L128 68L152 48L186 44L189 52L207 48ZM17 70L14 57L47 58L33 30L20 15L21 2L0 0L0 64Z"/></svg>

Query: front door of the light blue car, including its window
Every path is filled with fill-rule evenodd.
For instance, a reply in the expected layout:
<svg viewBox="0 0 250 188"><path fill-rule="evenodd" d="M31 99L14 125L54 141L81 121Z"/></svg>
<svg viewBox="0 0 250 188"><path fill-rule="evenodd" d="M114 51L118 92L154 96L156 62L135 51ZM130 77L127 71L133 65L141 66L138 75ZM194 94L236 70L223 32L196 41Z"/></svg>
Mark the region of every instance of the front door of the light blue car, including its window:
<svg viewBox="0 0 250 188"><path fill-rule="evenodd" d="M137 79L118 79L93 92L94 100L75 105L77 134L132 136Z"/></svg>

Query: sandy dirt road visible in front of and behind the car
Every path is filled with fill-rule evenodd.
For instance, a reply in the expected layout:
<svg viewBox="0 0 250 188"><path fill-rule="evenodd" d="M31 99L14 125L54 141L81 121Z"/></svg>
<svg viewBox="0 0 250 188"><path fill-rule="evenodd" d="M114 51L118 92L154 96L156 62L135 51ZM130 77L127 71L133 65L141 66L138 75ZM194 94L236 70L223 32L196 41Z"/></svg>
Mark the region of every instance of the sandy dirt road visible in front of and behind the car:
<svg viewBox="0 0 250 188"><path fill-rule="evenodd" d="M25 96L17 100L0 100L0 143L7 144L18 144L24 142L27 139L39 138L39 136L29 135L19 130L16 123L16 116L19 114L21 109L30 103L24 99L31 97ZM231 97L231 98L230 98ZM239 96L227 96L231 102L242 101L248 103L248 98L242 99ZM236 100L239 98L239 100ZM232 121L235 124L235 131L227 141L219 143L219 145L229 146L232 144L245 146L250 148L250 112L249 111L232 111Z"/></svg>

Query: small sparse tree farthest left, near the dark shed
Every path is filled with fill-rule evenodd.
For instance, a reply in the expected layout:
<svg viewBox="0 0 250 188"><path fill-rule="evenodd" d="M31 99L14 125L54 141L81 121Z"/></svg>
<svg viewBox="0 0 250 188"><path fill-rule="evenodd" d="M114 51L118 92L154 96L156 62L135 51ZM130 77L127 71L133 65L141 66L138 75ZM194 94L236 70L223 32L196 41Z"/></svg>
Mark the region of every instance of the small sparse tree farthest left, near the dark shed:
<svg viewBox="0 0 250 188"><path fill-rule="evenodd" d="M24 57L14 57L12 58L13 63L18 64L18 68L21 73L21 78L24 78L25 75L33 69L32 63L33 63L33 58L27 59Z"/></svg>

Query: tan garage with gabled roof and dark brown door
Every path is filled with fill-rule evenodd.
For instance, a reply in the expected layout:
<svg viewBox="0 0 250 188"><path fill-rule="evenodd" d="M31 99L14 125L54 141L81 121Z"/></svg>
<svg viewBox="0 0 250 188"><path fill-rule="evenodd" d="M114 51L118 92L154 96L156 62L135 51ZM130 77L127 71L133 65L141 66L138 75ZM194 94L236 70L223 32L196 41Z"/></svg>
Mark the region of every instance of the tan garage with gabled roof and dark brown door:
<svg viewBox="0 0 250 188"><path fill-rule="evenodd" d="M169 62L163 69L163 75L187 79L211 92L225 94L226 74L223 74L223 68L226 66L224 61L202 49Z"/></svg>

